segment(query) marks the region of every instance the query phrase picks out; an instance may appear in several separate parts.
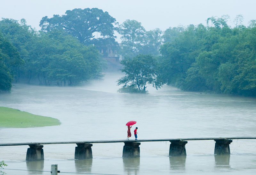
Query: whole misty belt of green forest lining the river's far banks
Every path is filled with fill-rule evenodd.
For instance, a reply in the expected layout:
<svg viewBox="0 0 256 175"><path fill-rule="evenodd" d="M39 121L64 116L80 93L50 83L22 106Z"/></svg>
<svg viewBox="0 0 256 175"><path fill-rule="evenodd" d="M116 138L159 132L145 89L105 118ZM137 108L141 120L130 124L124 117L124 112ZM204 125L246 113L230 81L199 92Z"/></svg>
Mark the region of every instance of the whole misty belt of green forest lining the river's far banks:
<svg viewBox="0 0 256 175"><path fill-rule="evenodd" d="M146 31L136 20L118 24L97 8L45 16L40 31L25 19L4 18L0 21L0 90L10 91L12 82L76 85L100 78L105 66L105 52L100 50L110 47L124 56L124 66L134 65L132 60L153 60L151 83L157 82L157 87L169 84L186 91L255 96L256 21L243 26L243 16L237 15L231 27L228 18L210 17L206 26L191 24L165 31ZM115 31L121 34L121 44ZM140 84L145 90L146 82Z"/></svg>

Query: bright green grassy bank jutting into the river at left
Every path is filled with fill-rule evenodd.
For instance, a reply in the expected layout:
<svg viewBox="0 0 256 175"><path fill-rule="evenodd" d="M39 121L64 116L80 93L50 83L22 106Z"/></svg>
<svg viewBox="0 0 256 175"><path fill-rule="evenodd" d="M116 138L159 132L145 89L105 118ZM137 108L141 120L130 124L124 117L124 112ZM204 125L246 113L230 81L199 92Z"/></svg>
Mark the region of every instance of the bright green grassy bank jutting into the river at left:
<svg viewBox="0 0 256 175"><path fill-rule="evenodd" d="M9 107L0 107L0 127L28 128L54 125L60 125L60 120L22 112Z"/></svg>

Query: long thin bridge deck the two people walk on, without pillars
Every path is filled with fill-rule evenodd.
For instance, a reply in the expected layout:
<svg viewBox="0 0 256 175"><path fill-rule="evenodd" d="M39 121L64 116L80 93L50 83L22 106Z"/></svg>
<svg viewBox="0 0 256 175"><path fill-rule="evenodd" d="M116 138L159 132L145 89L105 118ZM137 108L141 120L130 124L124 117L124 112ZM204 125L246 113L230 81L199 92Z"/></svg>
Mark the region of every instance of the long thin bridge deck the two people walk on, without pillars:
<svg viewBox="0 0 256 175"><path fill-rule="evenodd" d="M256 137L203 137L203 138L176 138L176 139L140 139L140 140L94 140L72 142L27 142L27 143L1 143L0 146L20 145L46 145L46 144L76 144L76 143L118 143L118 142L164 142L164 141L191 141L191 140L222 140L222 139L256 139Z"/></svg>

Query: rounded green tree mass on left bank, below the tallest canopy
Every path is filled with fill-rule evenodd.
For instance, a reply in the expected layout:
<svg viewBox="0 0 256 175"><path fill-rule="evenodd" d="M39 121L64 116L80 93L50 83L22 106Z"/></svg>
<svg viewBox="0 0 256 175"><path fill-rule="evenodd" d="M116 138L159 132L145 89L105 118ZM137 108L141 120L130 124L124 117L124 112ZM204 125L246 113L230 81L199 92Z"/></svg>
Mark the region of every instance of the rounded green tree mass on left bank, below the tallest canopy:
<svg viewBox="0 0 256 175"><path fill-rule="evenodd" d="M44 85L74 85L102 76L99 50L85 46L57 29L36 32L21 20L0 21L0 30L17 47L25 64L15 70L15 81Z"/></svg>

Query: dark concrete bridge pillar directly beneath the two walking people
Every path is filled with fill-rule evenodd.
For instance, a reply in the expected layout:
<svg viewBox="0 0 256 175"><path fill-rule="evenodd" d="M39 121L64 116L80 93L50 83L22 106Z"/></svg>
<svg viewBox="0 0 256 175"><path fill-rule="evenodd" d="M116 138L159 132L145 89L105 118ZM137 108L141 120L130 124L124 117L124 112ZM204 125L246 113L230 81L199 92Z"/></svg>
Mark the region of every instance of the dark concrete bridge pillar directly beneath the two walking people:
<svg viewBox="0 0 256 175"><path fill-rule="evenodd" d="M123 158L140 157L140 142L124 142Z"/></svg>

